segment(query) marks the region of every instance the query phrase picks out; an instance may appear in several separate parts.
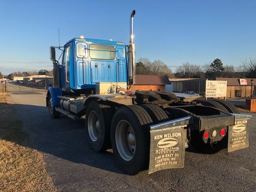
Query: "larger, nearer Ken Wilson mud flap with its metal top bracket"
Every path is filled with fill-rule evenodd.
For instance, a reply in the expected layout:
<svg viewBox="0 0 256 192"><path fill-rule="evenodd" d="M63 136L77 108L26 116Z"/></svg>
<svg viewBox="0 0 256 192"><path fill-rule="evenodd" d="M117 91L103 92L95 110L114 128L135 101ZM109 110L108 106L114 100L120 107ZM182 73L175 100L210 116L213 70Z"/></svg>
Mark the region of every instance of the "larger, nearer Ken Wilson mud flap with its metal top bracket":
<svg viewBox="0 0 256 192"><path fill-rule="evenodd" d="M190 116L150 126L148 174L162 169L183 168L186 131Z"/></svg>

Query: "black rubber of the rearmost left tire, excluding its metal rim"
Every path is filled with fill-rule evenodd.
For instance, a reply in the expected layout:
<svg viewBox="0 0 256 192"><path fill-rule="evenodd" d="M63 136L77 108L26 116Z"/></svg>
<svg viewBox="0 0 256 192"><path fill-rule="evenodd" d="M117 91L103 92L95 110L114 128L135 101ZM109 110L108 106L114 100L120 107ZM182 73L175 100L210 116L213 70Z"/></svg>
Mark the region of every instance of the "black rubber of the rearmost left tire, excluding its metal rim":
<svg viewBox="0 0 256 192"><path fill-rule="evenodd" d="M130 160L125 160L118 152L119 146L116 146L116 128L119 122L127 122L133 130L136 149ZM127 174L135 175L142 170L148 169L150 152L148 125L150 124L152 124L152 119L146 110L138 105L122 106L114 114L111 124L112 148L118 165Z"/></svg>

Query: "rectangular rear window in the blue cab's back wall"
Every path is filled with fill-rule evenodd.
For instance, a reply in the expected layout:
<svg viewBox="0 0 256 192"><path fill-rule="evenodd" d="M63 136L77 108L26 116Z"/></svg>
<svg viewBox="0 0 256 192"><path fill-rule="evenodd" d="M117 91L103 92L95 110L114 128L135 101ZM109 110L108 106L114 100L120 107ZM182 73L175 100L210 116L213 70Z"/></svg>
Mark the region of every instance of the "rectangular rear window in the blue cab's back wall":
<svg viewBox="0 0 256 192"><path fill-rule="evenodd" d="M113 60L115 58L115 49L110 45L90 44L89 55L92 59Z"/></svg>

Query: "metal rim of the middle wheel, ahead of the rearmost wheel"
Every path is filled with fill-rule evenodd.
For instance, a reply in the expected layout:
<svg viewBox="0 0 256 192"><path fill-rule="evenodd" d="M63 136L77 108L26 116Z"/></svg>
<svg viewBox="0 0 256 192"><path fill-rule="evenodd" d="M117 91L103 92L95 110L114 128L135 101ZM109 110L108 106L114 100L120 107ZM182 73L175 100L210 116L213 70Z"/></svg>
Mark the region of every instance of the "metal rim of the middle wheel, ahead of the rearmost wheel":
<svg viewBox="0 0 256 192"><path fill-rule="evenodd" d="M96 141L99 137L100 122L95 111L89 113L87 126L91 140Z"/></svg>

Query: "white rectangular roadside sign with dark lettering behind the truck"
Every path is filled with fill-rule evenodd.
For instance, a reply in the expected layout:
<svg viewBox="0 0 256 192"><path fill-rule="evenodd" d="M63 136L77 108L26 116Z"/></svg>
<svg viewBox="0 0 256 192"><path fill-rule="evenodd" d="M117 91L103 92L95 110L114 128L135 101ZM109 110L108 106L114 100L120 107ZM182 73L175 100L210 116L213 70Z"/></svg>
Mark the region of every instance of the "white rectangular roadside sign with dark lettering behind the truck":
<svg viewBox="0 0 256 192"><path fill-rule="evenodd" d="M227 81L206 80L205 97L226 97Z"/></svg>

